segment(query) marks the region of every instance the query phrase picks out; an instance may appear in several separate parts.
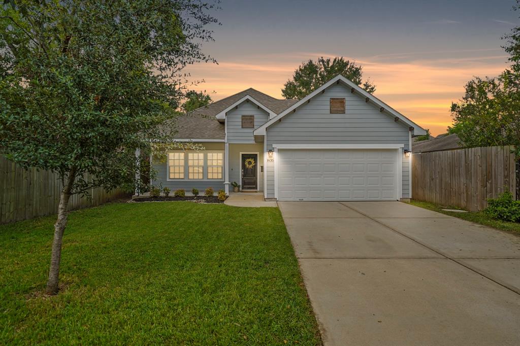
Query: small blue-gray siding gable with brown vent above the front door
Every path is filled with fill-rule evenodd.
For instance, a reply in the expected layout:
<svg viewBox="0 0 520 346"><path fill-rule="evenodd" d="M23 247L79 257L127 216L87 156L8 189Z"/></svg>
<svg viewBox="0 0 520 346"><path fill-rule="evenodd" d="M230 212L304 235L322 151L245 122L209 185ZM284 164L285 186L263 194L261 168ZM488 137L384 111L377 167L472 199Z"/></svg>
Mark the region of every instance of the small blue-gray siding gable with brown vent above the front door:
<svg viewBox="0 0 520 346"><path fill-rule="evenodd" d="M226 128L228 143L254 143L253 130L255 128L242 128L242 115L255 116L255 128L262 126L269 120L269 114L262 108L258 108L253 102L242 102L238 108L227 112Z"/></svg>

